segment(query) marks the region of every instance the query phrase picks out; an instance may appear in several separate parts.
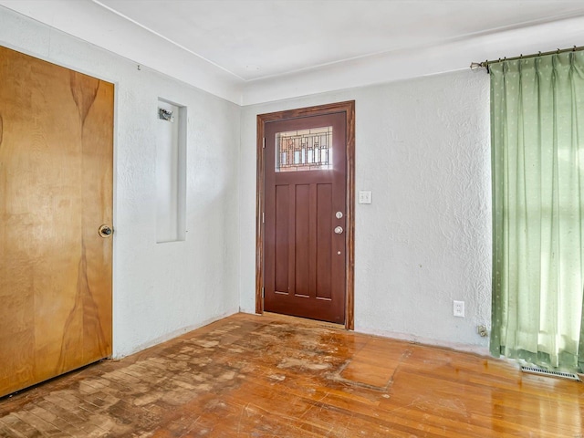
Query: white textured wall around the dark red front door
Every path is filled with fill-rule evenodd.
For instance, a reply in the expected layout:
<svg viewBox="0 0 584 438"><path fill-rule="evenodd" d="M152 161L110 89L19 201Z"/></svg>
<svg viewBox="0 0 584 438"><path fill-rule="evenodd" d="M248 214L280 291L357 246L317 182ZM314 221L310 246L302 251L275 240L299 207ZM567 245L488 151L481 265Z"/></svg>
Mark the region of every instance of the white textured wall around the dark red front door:
<svg viewBox="0 0 584 438"><path fill-rule="evenodd" d="M490 326L489 89L465 70L244 107L241 308L255 311L255 117L356 101L355 328L476 349ZM464 300L466 318L453 317Z"/></svg>

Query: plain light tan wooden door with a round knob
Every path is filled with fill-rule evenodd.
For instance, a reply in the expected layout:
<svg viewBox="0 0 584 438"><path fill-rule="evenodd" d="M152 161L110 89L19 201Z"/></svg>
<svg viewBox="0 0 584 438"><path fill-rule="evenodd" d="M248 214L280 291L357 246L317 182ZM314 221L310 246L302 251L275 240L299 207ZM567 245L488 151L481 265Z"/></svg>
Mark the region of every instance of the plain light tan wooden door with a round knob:
<svg viewBox="0 0 584 438"><path fill-rule="evenodd" d="M0 396L111 354L113 95L0 47Z"/></svg>

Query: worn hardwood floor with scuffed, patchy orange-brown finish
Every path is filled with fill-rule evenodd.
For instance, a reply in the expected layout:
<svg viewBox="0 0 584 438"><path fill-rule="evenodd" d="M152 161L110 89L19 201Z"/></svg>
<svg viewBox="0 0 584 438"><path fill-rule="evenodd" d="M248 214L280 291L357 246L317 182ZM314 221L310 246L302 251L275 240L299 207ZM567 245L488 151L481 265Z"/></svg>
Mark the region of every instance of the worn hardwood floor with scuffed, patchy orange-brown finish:
<svg viewBox="0 0 584 438"><path fill-rule="evenodd" d="M584 438L584 384L238 314L0 399L0 436Z"/></svg>

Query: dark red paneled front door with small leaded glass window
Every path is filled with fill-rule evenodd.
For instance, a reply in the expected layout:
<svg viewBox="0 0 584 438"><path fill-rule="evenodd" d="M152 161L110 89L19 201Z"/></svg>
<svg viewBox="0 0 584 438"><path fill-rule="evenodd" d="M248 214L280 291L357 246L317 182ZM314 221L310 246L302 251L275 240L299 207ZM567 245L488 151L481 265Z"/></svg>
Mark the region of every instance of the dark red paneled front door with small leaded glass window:
<svg viewBox="0 0 584 438"><path fill-rule="evenodd" d="M345 321L346 114L266 122L264 309Z"/></svg>

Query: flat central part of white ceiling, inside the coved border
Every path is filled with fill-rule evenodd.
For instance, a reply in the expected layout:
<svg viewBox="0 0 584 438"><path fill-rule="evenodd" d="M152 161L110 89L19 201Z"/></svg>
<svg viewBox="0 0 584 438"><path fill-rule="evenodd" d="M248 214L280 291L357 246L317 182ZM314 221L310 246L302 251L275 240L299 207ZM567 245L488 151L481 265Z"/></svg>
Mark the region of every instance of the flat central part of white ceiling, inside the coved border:
<svg viewBox="0 0 584 438"><path fill-rule="evenodd" d="M582 0L96 0L96 3L243 80L584 14Z"/></svg>

